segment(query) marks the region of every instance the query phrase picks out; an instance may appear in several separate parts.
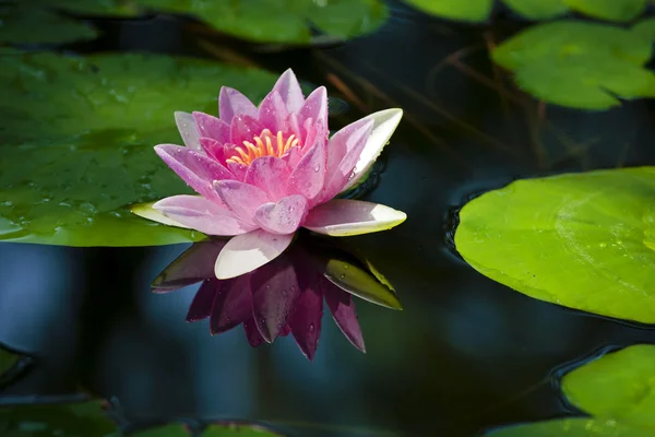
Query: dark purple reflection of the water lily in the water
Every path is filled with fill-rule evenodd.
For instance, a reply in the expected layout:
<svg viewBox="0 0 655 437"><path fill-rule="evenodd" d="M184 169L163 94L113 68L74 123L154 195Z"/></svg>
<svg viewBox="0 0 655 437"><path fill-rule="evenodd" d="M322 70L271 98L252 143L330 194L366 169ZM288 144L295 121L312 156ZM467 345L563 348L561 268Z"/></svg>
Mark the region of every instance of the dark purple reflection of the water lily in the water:
<svg viewBox="0 0 655 437"><path fill-rule="evenodd" d="M324 245L317 249L317 241L301 237L270 263L228 280L214 274L216 256L227 241L196 243L157 276L153 292L202 282L188 321L210 318L212 334L242 324L253 347L290 333L309 359L317 351L324 298L346 339L365 352L353 296L394 309L401 305L395 293L352 255Z"/></svg>

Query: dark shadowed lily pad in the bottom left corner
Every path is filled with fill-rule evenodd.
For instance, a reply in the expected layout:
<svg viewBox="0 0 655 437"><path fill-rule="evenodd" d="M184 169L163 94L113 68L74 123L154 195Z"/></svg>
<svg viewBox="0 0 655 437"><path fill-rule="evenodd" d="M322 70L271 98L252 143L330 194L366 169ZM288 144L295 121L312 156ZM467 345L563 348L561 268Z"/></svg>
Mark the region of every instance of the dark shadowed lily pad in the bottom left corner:
<svg viewBox="0 0 655 437"><path fill-rule="evenodd" d="M100 401L0 406L4 437L117 437Z"/></svg>

